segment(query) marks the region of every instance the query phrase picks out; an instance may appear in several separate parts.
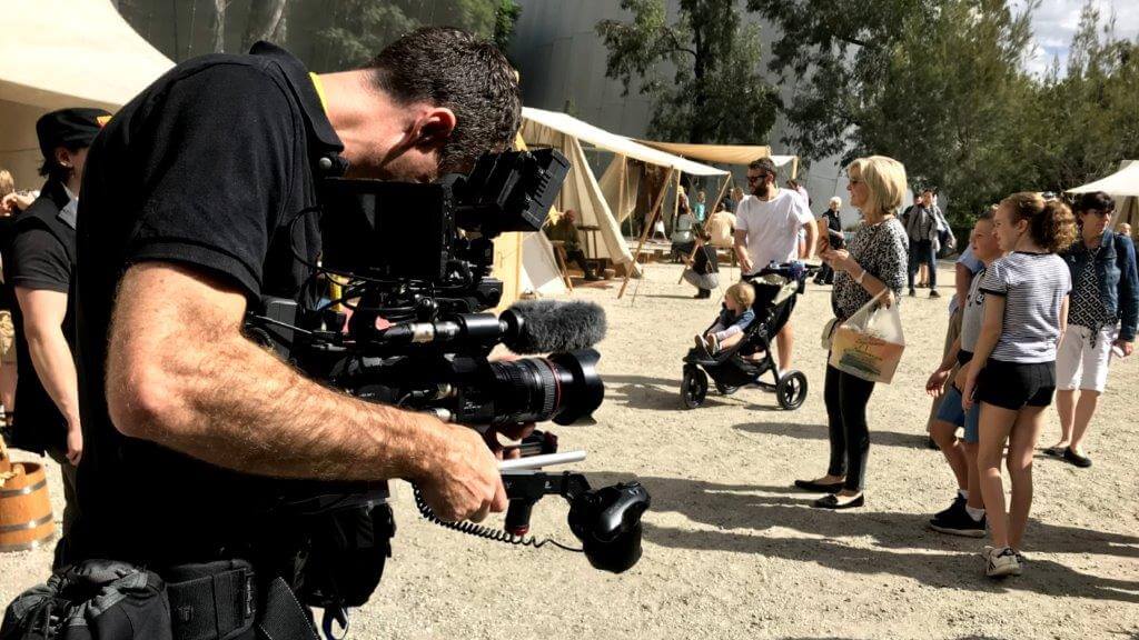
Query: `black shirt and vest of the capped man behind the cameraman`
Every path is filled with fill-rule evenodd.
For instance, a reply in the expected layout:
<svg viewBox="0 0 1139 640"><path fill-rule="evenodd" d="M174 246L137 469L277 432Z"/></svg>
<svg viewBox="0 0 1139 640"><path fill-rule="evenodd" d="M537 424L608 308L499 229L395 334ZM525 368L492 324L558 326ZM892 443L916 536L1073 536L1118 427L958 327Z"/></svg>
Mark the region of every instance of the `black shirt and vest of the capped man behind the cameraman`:
<svg viewBox="0 0 1139 640"><path fill-rule="evenodd" d="M62 214L71 196L64 186L49 181L40 197L16 214L5 249L5 282L16 287L67 294L75 269L74 216ZM24 331L24 313L13 294L11 320L16 328L16 419L13 445L44 453L67 451L67 420L48 395L32 362ZM71 297L60 329L74 353L75 312Z"/></svg>

